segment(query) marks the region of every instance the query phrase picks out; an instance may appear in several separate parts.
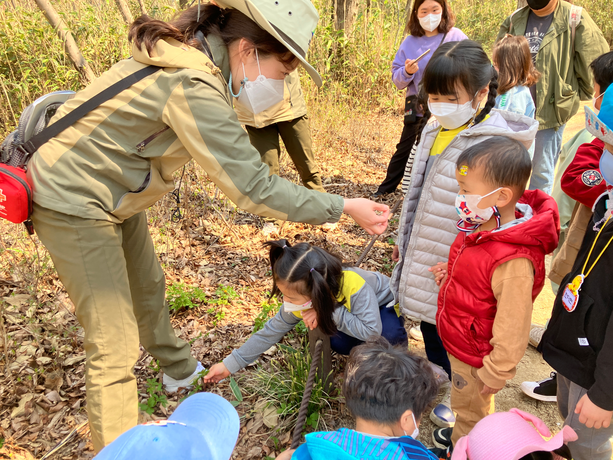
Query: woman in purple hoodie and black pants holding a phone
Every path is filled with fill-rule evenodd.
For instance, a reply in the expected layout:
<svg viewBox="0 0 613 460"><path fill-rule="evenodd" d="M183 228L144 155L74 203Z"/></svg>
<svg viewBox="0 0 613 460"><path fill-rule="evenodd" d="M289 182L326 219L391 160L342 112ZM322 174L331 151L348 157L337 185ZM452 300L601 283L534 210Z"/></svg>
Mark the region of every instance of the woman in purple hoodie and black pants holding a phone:
<svg viewBox="0 0 613 460"><path fill-rule="evenodd" d="M421 110L417 107L417 88L426 64L443 42L457 42L468 37L458 28L454 27L455 15L451 11L447 0L415 0L413 10L406 23L405 32L411 33L400 45L392 63L392 81L398 90L406 88L405 126L402 129L400 142L396 145L396 152L387 166L385 180L378 190L371 194L376 198L383 194L392 193L402 180L406 161L417 137ZM422 53L430 50L419 62L416 59Z"/></svg>

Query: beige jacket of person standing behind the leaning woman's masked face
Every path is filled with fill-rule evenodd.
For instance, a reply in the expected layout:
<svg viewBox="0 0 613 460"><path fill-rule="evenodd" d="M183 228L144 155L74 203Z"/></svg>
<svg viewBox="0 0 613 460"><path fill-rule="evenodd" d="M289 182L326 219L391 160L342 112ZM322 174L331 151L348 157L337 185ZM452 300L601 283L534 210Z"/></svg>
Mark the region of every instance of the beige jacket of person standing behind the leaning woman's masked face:
<svg viewBox="0 0 613 460"><path fill-rule="evenodd" d="M251 113L238 99L232 99L234 99L234 110L238 115L238 121L243 125L253 126L253 128L264 128L264 126L279 121L291 121L307 113L307 104L302 95L298 69L285 77L283 101L277 102L261 113Z"/></svg>

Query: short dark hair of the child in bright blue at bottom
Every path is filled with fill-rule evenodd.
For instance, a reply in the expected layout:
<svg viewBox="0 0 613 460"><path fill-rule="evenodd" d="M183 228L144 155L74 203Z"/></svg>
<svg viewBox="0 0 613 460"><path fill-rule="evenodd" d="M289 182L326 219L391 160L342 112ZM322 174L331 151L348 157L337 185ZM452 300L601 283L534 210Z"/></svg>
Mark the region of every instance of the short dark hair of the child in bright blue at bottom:
<svg viewBox="0 0 613 460"><path fill-rule="evenodd" d="M406 410L419 420L438 394L428 360L384 337L369 337L349 355L343 396L354 417L380 424L397 423Z"/></svg>

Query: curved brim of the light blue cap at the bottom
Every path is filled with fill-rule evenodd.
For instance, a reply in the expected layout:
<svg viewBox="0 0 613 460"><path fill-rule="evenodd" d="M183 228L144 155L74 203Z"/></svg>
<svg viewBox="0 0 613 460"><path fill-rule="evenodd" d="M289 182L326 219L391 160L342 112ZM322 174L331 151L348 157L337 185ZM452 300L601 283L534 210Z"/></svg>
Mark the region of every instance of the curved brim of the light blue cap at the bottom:
<svg viewBox="0 0 613 460"><path fill-rule="evenodd" d="M212 460L228 460L234 451L240 420L236 409L214 393L196 393L178 405L168 420L194 427L207 441Z"/></svg>

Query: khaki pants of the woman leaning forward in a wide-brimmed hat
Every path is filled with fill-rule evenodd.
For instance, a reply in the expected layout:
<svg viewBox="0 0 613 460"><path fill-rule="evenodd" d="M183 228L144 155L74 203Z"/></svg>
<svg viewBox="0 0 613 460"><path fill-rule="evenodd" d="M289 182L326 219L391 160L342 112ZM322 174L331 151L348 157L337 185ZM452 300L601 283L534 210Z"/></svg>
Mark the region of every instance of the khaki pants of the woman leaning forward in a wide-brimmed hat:
<svg viewBox="0 0 613 460"><path fill-rule="evenodd" d="M32 221L85 329L87 413L97 452L137 424L139 342L173 378L189 377L196 359L170 324L145 212L114 224L34 204Z"/></svg>

